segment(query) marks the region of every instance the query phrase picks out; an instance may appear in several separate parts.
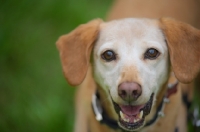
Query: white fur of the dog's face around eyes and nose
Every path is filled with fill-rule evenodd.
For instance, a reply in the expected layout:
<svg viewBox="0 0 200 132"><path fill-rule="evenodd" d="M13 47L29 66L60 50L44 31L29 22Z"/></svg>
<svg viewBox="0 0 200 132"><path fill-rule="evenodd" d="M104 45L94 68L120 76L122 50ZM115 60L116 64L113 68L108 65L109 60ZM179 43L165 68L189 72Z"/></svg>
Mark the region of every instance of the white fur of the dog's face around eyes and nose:
<svg viewBox="0 0 200 132"><path fill-rule="evenodd" d="M155 60L145 59L144 54L149 48L157 49L159 57ZM106 50L113 50L117 59L104 61L101 54ZM107 93L110 91L116 103L126 104L118 96L123 72L136 76L132 81L141 85L142 94L133 102L134 105L145 104L151 94L154 92L157 95L159 88L167 81L168 48L156 20L129 18L101 24L93 56L95 80ZM130 71L133 72L126 73L125 68L132 68Z"/></svg>

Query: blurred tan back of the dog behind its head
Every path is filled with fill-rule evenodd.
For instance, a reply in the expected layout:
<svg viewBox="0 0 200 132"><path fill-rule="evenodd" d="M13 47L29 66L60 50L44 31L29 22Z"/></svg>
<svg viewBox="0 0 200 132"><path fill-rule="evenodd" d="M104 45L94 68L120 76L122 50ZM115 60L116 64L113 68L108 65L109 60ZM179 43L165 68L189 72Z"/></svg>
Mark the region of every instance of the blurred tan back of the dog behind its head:
<svg viewBox="0 0 200 132"><path fill-rule="evenodd" d="M200 28L200 0L115 0L108 20L172 17Z"/></svg>

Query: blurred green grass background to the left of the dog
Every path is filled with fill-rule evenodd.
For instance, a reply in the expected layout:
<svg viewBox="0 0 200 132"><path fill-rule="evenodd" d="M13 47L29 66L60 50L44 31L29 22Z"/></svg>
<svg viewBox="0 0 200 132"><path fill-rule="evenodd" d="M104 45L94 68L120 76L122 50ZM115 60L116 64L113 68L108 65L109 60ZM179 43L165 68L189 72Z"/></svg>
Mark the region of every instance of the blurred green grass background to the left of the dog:
<svg viewBox="0 0 200 132"><path fill-rule="evenodd" d="M55 42L104 18L111 0L19 0L0 4L0 131L71 132L74 88Z"/></svg>

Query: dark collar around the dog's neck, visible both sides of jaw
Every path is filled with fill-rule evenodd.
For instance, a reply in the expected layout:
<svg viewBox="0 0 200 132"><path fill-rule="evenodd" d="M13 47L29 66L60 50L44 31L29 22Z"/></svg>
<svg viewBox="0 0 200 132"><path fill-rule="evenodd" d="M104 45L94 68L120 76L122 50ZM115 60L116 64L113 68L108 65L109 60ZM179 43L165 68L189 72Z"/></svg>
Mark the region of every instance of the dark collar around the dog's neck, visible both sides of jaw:
<svg viewBox="0 0 200 132"><path fill-rule="evenodd" d="M177 92L177 84L178 84L178 82L176 82L174 84L168 84L168 89L167 89L165 96L163 97L161 103L159 104L154 117L149 122L147 122L144 127L154 124L157 121L158 117L165 116L165 114L163 112L164 104L169 103L170 102L169 97L172 94L175 94ZM94 111L97 121L99 121L102 124L106 124L110 128L120 129L117 121L109 118L108 115L106 114L106 112L103 110L101 103L100 103L100 96L99 96L98 92L96 92L96 94L93 94L93 96L92 96L92 108L93 108L93 111Z"/></svg>

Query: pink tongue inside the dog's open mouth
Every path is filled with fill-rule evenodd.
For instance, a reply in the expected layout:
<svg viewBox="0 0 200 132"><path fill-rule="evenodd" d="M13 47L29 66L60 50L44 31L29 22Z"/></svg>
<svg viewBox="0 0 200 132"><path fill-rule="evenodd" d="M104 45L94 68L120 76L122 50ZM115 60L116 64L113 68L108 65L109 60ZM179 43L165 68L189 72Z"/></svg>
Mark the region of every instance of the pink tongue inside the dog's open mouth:
<svg viewBox="0 0 200 132"><path fill-rule="evenodd" d="M144 105L138 105L138 106L131 106L131 105L120 105L120 108L122 112L126 115L137 115L140 113L140 109L142 109Z"/></svg>

